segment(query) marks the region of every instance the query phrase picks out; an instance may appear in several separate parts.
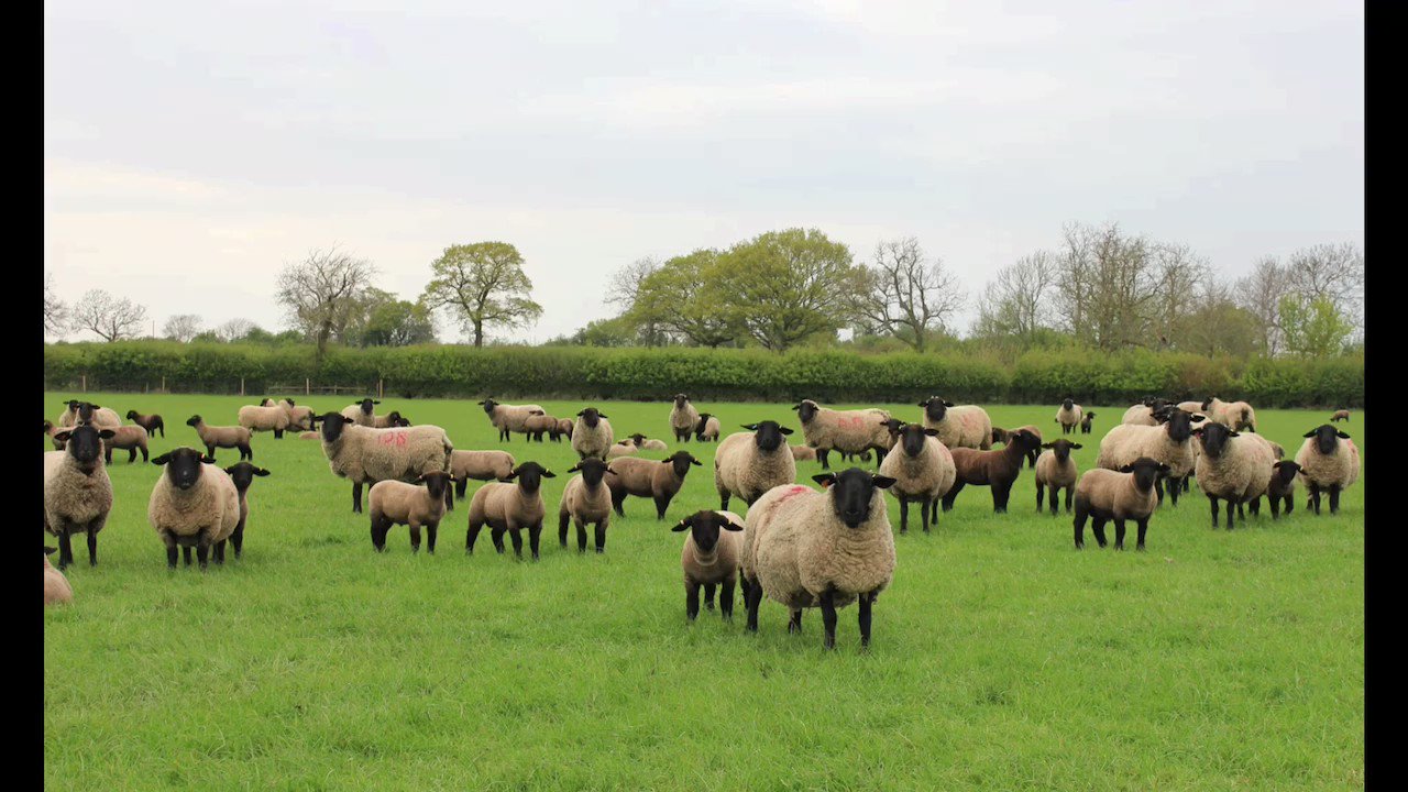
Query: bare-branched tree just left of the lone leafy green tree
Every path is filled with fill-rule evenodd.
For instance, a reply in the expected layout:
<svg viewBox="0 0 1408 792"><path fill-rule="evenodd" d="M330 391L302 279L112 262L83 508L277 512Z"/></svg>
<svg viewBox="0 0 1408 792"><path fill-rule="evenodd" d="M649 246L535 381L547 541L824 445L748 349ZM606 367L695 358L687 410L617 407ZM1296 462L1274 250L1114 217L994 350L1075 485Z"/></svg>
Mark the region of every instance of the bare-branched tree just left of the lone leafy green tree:
<svg viewBox="0 0 1408 792"><path fill-rule="evenodd" d="M317 342L317 361L327 354L328 340L346 326L375 273L372 262L337 248L310 251L301 262L284 265L279 273L277 300L290 324Z"/></svg>

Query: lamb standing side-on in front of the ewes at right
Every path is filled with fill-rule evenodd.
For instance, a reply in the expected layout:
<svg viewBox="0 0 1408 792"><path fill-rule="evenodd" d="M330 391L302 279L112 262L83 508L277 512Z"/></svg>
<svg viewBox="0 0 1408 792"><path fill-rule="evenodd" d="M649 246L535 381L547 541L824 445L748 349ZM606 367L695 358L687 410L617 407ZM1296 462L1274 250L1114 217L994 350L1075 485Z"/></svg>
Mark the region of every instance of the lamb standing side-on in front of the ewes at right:
<svg viewBox="0 0 1408 792"><path fill-rule="evenodd" d="M1167 475L1169 465L1139 457L1119 471L1095 468L1086 471L1076 482L1076 550L1086 547L1086 520L1093 520L1091 530L1100 547L1105 547L1105 523L1115 521L1115 550L1125 548L1125 520L1133 520L1139 528L1135 550L1145 548L1145 533L1149 530L1149 516L1159 506L1155 482Z"/></svg>

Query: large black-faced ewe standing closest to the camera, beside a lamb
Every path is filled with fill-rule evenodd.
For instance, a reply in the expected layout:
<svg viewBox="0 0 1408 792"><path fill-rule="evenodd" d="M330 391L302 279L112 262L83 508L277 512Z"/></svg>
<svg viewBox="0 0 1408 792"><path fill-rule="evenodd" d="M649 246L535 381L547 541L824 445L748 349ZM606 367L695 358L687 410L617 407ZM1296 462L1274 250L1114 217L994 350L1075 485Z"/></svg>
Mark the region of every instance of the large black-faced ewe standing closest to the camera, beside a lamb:
<svg viewBox="0 0 1408 792"><path fill-rule="evenodd" d="M824 645L836 645L836 609L860 603L860 645L870 645L876 598L894 576L894 534L884 489L894 479L860 468L821 474L817 492L776 486L748 510L741 561L748 630L758 631L766 593L791 612L788 633L801 631L804 607L821 607Z"/></svg>

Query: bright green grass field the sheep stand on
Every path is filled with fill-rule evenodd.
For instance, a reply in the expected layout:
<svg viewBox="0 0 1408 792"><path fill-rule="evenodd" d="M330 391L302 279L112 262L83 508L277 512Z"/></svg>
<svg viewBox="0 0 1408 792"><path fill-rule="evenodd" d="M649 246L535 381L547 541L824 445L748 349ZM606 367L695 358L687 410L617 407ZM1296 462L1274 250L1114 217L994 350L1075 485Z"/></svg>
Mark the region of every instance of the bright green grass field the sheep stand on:
<svg viewBox="0 0 1408 792"><path fill-rule="evenodd" d="M69 393L48 393L54 420ZM158 412L153 454L199 445L191 413L235 423L238 396L89 393ZM346 400L311 397L320 409ZM541 402L573 414L582 403ZM670 443L669 403L598 403L617 435ZM786 404L700 403L724 433ZM386 399L496 448L472 402ZM912 404L890 406L917 419ZM1124 407L1087 406L1084 471ZM998 426L1059 435L1056 406L991 407ZM1294 454L1328 412L1264 410ZM1363 413L1346 430L1367 452ZM1046 428L1049 427L1049 428ZM800 433L798 435L800 437ZM42 438L48 450L48 440ZM1353 789L1364 769L1364 479L1331 517L1211 530L1194 485L1150 521L1149 551L1071 548L1071 520L1035 513L1031 471L1011 512L967 488L934 533L897 537L898 567L859 647L841 612L836 651L818 612L801 636L763 600L759 633L718 612L684 620L683 534L717 507L714 444L687 448L667 521L628 499L605 555L556 543L574 454L527 444L558 472L543 495L539 562L466 557L467 500L436 555L404 527L372 550L351 485L321 444L255 440L245 555L166 569L146 521L161 474L111 466L115 505L100 565L75 543L75 602L45 610L45 781L54 789ZM221 465L238 452L222 450ZM798 465L810 483L817 464ZM1366 471L1367 472L1367 471ZM735 502L735 509L741 505ZM898 526L898 506L891 499ZM1111 541L1114 534L1111 531ZM1129 543L1133 543L1131 526ZM55 540L45 534L45 544ZM232 554L231 554L232 558Z"/></svg>

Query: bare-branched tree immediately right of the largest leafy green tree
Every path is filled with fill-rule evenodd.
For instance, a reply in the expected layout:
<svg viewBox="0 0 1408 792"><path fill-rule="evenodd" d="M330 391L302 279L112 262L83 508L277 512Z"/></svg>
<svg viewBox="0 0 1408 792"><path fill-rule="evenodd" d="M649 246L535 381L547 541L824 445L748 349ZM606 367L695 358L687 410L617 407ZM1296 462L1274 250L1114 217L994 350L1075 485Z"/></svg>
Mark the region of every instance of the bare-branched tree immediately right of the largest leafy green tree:
<svg viewBox="0 0 1408 792"><path fill-rule="evenodd" d="M877 242L874 264L855 269L849 295L867 330L888 333L919 352L925 337L942 331L964 300L957 276L942 259L926 262L914 237Z"/></svg>

